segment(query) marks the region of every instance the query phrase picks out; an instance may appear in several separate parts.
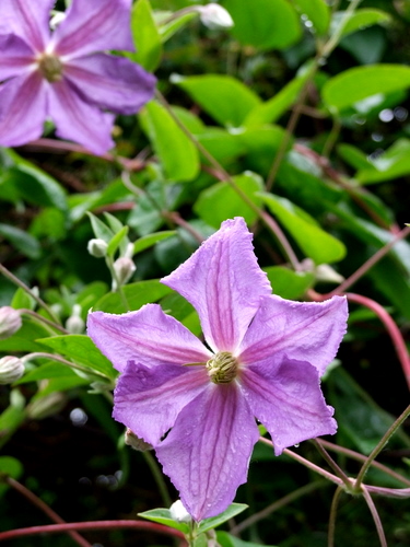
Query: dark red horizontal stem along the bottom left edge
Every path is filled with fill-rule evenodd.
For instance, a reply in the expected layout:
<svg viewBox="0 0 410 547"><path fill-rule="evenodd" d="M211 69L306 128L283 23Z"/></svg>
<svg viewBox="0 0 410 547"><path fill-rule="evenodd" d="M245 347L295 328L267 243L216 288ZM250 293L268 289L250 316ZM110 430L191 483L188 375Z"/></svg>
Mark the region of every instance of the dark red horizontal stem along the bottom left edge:
<svg viewBox="0 0 410 547"><path fill-rule="evenodd" d="M37 534L58 534L61 532L79 531L79 529L118 529L118 528L132 528L132 529L148 529L174 536L179 539L185 539L181 532L175 528L168 528L162 524L140 521L92 521L92 522L70 522L65 524L47 524L44 526L30 526L27 528L9 529L0 532L0 542L5 539L13 539L15 537L32 536Z"/></svg>

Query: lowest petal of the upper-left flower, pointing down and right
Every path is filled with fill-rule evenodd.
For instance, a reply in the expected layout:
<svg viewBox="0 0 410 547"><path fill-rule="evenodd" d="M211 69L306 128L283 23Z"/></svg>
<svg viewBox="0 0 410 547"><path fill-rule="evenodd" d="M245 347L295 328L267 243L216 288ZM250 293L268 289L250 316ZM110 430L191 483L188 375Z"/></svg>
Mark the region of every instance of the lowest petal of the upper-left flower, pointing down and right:
<svg viewBox="0 0 410 547"><path fill-rule="evenodd" d="M48 114L58 137L80 142L94 154L104 154L114 147L113 114L85 103L66 79L54 82L48 90Z"/></svg>

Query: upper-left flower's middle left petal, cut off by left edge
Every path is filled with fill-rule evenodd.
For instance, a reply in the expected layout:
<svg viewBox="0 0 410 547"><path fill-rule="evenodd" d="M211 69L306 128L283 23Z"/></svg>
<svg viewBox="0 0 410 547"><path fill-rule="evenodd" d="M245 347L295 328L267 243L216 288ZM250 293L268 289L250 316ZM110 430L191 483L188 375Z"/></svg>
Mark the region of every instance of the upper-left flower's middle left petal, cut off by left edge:
<svg viewBox="0 0 410 547"><path fill-rule="evenodd" d="M0 35L0 81L30 71L34 63L34 53L15 34Z"/></svg>

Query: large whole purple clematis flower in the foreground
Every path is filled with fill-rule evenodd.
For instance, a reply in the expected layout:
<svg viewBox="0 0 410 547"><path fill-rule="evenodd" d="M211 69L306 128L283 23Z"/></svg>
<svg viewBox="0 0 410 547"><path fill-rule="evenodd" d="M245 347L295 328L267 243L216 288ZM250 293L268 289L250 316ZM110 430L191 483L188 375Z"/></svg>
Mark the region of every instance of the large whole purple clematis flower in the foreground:
<svg viewBox="0 0 410 547"><path fill-rule="evenodd" d="M319 377L345 333L347 302L272 295L241 218L162 282L196 307L208 347L156 304L91 313L89 335L121 372L114 418L155 447L200 521L224 511L246 481L255 418L277 455L336 432Z"/></svg>

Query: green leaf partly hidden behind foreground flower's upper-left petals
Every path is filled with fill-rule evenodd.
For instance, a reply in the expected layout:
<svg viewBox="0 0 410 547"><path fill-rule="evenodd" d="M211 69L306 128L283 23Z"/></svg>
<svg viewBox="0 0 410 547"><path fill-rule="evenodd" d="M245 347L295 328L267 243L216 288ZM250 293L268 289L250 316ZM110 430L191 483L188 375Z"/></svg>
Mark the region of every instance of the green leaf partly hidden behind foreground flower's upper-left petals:
<svg viewBox="0 0 410 547"><path fill-rule="evenodd" d="M171 292L171 289L157 280L138 281L122 288L130 310L139 310L144 304L157 302ZM124 313L122 300L118 293L109 293L103 296L94 306L94 311L107 313Z"/></svg>

